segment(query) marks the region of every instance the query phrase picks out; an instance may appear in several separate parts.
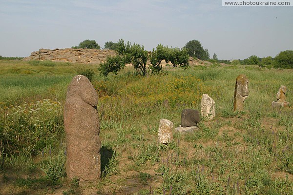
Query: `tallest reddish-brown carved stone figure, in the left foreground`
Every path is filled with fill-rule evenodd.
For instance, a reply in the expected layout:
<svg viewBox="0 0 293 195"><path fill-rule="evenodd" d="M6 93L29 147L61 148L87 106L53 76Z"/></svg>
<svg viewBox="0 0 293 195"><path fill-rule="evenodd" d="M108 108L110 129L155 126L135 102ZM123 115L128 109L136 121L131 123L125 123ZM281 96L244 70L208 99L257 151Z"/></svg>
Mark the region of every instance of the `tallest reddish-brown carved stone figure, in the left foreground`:
<svg viewBox="0 0 293 195"><path fill-rule="evenodd" d="M98 95L83 75L75 76L67 89L64 106L66 173L81 183L96 183L101 176Z"/></svg>

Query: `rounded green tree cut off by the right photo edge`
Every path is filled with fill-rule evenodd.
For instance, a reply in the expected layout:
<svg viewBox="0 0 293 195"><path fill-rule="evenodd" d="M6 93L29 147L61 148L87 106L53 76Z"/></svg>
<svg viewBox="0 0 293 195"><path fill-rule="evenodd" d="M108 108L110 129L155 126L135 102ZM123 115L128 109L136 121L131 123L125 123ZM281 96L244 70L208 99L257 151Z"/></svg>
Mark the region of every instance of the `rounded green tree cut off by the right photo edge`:
<svg viewBox="0 0 293 195"><path fill-rule="evenodd" d="M293 68L293 50L280 52L274 58L275 68Z"/></svg>

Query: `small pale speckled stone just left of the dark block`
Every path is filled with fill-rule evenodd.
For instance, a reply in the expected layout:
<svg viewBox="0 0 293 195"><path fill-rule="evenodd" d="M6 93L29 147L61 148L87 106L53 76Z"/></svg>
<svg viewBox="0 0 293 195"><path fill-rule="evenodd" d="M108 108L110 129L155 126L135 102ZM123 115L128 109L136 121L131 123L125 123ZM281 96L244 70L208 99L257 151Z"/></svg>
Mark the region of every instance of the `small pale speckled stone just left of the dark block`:
<svg viewBox="0 0 293 195"><path fill-rule="evenodd" d="M172 140L172 130L173 130L173 122L167 119L161 119L159 130L158 130L158 138L159 143L168 144Z"/></svg>

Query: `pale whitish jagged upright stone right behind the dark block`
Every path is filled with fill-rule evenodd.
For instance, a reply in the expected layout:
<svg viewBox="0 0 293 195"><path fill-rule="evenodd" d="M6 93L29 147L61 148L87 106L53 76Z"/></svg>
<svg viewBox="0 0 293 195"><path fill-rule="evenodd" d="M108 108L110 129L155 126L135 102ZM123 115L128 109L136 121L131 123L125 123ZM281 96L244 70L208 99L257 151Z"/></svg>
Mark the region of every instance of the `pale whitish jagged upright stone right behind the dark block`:
<svg viewBox="0 0 293 195"><path fill-rule="evenodd" d="M211 120L216 116L215 101L210 98L208 94L203 94L200 107L202 117L206 117L208 120Z"/></svg>

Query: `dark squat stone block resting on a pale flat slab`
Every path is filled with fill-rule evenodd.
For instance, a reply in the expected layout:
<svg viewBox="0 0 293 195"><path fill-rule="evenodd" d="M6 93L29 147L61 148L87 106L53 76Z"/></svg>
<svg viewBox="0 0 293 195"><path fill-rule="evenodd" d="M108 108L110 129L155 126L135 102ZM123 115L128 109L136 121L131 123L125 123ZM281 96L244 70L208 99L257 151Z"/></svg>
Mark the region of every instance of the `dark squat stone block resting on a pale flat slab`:
<svg viewBox="0 0 293 195"><path fill-rule="evenodd" d="M196 126L200 121L200 116L197 110L184 109L181 112L181 127Z"/></svg>

